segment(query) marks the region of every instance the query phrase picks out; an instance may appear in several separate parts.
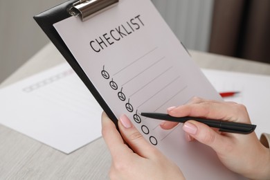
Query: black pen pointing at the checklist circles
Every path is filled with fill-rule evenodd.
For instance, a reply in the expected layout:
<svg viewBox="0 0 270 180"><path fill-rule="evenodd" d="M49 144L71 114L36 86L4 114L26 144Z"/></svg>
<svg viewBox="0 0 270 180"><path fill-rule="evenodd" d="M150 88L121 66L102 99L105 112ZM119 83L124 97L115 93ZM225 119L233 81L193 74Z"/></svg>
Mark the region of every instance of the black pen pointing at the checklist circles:
<svg viewBox="0 0 270 180"><path fill-rule="evenodd" d="M235 123L228 122L224 120L214 120L214 119L206 119L206 118L196 118L196 117L173 117L168 114L161 113L141 113L141 116L145 116L147 118L154 118L160 120L169 120L178 123L185 123L187 120L196 120L200 123L204 123L210 127L219 128L219 132L231 132L238 134L249 134L254 131L256 125L244 124L244 123Z"/></svg>

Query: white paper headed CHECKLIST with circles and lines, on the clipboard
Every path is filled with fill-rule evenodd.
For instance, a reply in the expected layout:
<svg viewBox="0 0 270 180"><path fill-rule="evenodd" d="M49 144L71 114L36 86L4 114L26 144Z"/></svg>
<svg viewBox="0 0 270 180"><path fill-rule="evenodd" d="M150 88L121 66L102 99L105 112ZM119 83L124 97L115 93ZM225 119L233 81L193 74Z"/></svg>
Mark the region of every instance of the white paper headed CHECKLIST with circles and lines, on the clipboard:
<svg viewBox="0 0 270 180"><path fill-rule="evenodd" d="M181 125L163 130L140 116L194 96L221 100L151 1L121 0L87 21L69 17L54 27L115 116L126 114L187 179L240 179L210 148L187 143Z"/></svg>

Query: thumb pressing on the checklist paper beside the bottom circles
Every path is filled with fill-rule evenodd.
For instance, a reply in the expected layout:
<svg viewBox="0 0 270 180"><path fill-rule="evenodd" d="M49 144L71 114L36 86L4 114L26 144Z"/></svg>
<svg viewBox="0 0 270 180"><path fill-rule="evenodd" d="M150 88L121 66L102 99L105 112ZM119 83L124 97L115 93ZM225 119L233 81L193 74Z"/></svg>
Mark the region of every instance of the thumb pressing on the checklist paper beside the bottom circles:
<svg viewBox="0 0 270 180"><path fill-rule="evenodd" d="M150 158L154 154L155 148L145 140L126 115L120 116L118 127L123 139L136 154L145 158Z"/></svg>

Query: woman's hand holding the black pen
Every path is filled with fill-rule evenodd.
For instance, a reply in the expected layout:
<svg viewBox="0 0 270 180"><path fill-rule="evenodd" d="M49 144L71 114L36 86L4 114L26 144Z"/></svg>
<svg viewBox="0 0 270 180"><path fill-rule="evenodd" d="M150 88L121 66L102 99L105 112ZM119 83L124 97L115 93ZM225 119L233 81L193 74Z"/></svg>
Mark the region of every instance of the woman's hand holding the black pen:
<svg viewBox="0 0 270 180"><path fill-rule="evenodd" d="M193 116L228 120L237 123L251 123L244 105L235 102L219 102L193 98L187 105L168 108L168 114L175 117ZM171 129L177 123L163 121L163 129ZM255 132L233 134L218 132L195 120L183 124L188 141L197 140L217 152L220 161L227 168L250 179L270 179L270 151L258 140Z"/></svg>

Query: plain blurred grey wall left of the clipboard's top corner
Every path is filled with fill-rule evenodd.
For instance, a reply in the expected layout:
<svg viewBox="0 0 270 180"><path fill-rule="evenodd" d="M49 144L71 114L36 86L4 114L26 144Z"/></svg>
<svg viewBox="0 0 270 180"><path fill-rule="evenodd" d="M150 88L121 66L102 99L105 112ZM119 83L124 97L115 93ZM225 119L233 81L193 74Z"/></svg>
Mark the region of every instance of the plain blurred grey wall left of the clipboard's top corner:
<svg viewBox="0 0 270 180"><path fill-rule="evenodd" d="M0 0L0 82L48 43L33 16L63 1Z"/></svg>

